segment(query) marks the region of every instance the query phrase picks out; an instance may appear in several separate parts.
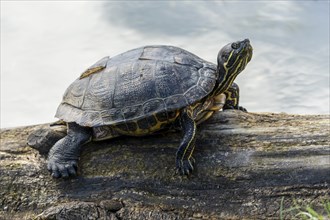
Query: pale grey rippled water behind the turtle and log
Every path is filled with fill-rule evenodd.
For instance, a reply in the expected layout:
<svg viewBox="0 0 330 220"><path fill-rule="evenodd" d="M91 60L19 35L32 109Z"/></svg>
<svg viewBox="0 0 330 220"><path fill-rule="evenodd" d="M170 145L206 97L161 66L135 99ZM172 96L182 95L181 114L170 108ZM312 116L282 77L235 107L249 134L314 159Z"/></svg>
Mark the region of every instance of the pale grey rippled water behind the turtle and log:
<svg viewBox="0 0 330 220"><path fill-rule="evenodd" d="M329 114L329 1L1 1L1 127L54 121L67 86L104 56L168 44L216 62L245 38L242 106Z"/></svg>

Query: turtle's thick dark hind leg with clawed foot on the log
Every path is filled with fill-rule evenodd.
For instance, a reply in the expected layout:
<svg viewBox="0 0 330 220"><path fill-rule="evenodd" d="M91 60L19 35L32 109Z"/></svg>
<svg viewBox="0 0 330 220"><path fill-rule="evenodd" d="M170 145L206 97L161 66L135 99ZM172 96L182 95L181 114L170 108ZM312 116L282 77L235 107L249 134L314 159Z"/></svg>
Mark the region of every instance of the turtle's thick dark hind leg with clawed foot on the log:
<svg viewBox="0 0 330 220"><path fill-rule="evenodd" d="M47 169L54 178L76 175L81 146L91 137L91 128L68 123L67 135L57 141L48 154Z"/></svg>

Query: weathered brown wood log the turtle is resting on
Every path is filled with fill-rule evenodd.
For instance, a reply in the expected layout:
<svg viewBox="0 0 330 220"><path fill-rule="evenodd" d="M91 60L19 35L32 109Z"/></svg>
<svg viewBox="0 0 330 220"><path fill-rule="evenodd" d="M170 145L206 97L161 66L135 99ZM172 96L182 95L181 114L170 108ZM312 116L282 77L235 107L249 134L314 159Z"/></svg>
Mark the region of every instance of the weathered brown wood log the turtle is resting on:
<svg viewBox="0 0 330 220"><path fill-rule="evenodd" d="M26 144L48 126L1 130L0 219L279 219L282 199L330 200L329 115L219 112L199 127L190 178L166 133L89 143L78 177L52 179Z"/></svg>

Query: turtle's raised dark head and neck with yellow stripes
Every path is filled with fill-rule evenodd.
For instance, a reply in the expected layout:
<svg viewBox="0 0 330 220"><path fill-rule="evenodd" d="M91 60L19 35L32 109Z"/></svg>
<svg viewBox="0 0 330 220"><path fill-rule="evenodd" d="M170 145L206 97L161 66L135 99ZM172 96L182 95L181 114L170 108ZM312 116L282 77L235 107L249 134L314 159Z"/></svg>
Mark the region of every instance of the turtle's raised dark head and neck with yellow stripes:
<svg viewBox="0 0 330 220"><path fill-rule="evenodd" d="M214 94L226 91L236 76L244 70L252 58L252 46L249 39L236 41L224 46L218 54L217 71L219 78Z"/></svg>

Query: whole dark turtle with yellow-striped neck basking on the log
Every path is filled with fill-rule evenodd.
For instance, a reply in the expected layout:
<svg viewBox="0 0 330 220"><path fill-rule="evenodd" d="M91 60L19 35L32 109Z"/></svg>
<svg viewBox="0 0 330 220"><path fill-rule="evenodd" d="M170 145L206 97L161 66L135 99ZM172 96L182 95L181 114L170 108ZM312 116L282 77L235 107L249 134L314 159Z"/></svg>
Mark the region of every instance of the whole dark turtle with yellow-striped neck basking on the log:
<svg viewBox="0 0 330 220"><path fill-rule="evenodd" d="M67 134L50 149L54 178L77 175L81 146L118 136L182 131L175 167L194 170L197 125L221 109L239 109L236 76L252 58L249 39L222 47L217 65L179 47L150 45L104 57L65 91L55 117Z"/></svg>

